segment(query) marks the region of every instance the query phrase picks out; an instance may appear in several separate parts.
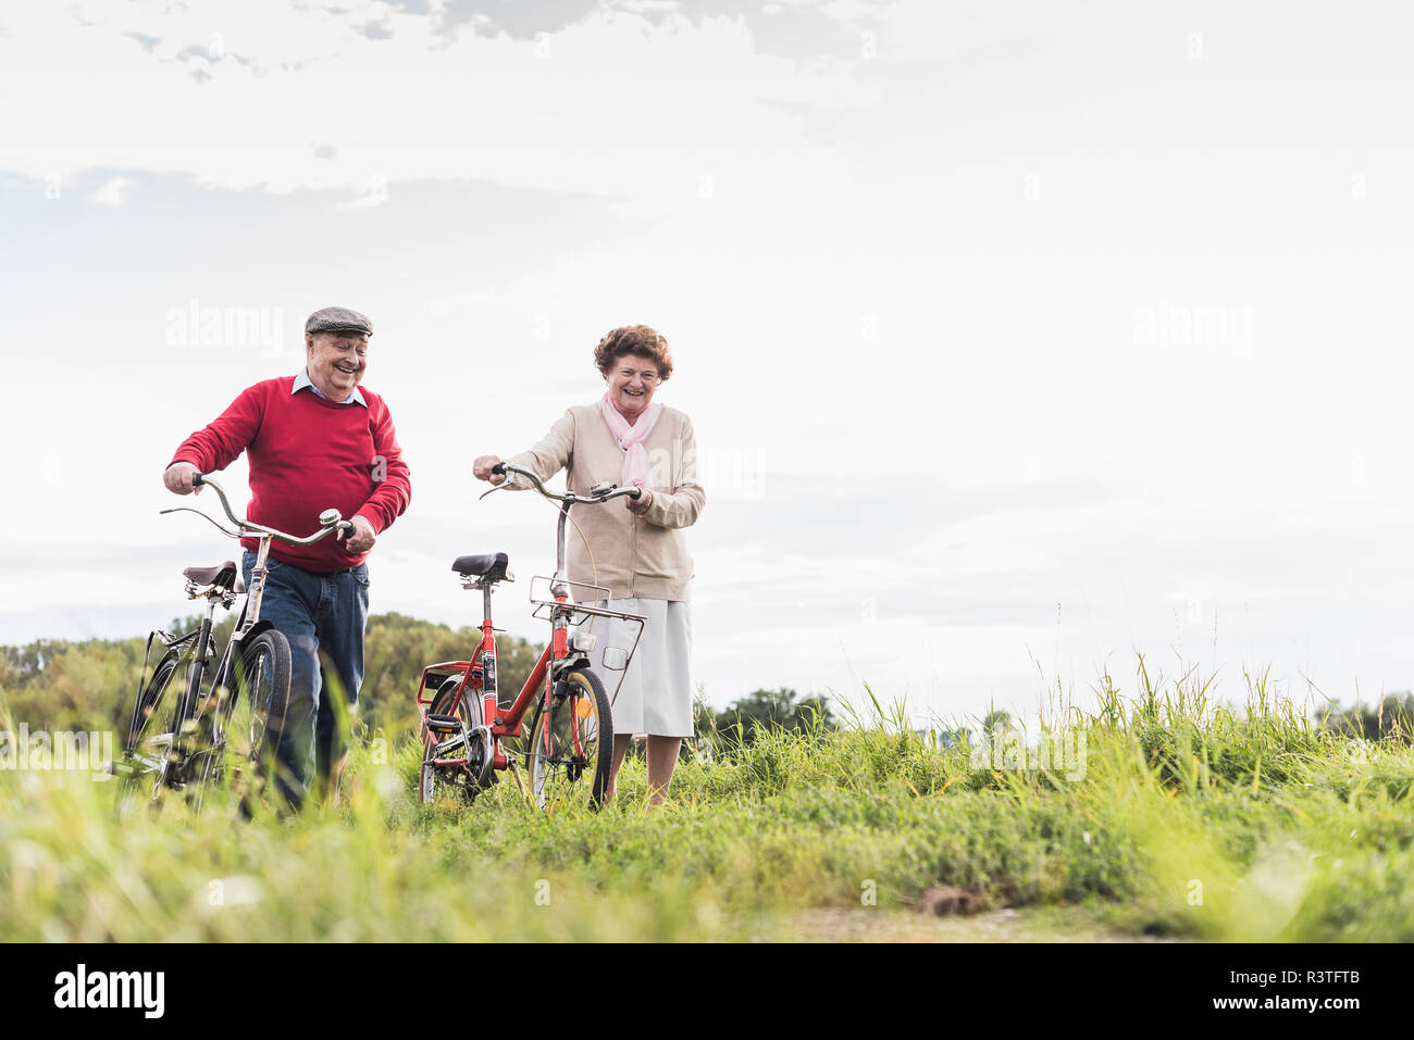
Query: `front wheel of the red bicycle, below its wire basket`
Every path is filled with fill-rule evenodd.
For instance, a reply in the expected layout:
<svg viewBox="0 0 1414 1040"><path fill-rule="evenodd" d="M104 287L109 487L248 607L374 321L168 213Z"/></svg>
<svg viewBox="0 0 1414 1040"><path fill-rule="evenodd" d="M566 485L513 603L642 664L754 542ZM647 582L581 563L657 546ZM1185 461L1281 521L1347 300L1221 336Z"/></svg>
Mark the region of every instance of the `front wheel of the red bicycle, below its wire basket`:
<svg viewBox="0 0 1414 1040"><path fill-rule="evenodd" d="M588 668L567 671L530 722L526 773L540 808L604 804L614 767L614 719L604 682Z"/></svg>

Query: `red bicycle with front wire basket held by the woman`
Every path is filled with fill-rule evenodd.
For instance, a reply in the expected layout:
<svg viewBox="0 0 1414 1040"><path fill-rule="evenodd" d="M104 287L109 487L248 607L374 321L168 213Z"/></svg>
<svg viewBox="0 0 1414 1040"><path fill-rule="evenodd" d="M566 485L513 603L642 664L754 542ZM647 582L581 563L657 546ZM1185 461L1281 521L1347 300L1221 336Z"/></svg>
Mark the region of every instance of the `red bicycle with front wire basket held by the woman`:
<svg viewBox="0 0 1414 1040"><path fill-rule="evenodd" d="M588 495L551 492L533 472L510 462L496 463L492 472L526 478L534 490L560 507L554 575L530 579L530 602L536 605L532 616L550 622L550 642L515 702L502 708L496 694L491 593L499 582L515 581L515 577L505 552L457 557L451 569L461 575L462 588L482 593L481 643L471 660L441 661L423 668L417 685L423 736L419 800L469 803L495 781L498 772L508 769L525 793L515 757L506 753L502 742L522 736L522 721L533 705L525 757L534 803L540 808L585 803L597 808L604 801L614 762L614 721L604 681L590 667L590 654L597 644L594 619L638 622L632 647L605 647L601 656L605 668L622 673L638 649L643 616L570 601L571 589L580 601L608 601L611 591L564 577L566 521L573 506L604 504L624 496L638 497L641 492L608 483L595 485ZM486 495L505 486L492 488ZM536 582L547 582L547 596L536 596ZM580 783L585 772L590 773L587 784Z"/></svg>

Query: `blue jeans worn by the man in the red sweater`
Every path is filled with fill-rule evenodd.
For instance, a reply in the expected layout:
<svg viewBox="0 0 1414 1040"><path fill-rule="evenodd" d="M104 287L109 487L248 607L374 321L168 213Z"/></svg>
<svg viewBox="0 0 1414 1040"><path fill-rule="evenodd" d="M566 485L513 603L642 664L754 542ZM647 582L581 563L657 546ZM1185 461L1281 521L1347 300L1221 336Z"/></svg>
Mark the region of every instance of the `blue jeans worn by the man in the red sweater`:
<svg viewBox="0 0 1414 1040"><path fill-rule="evenodd" d="M256 554L246 550L240 565L246 588ZM315 777L327 783L348 750L331 695L342 691L358 707L363 684L363 626L368 620L368 564L348 571L314 574L274 557L266 560L260 620L290 640L290 705L286 709L276 776L284 797L304 801ZM337 680L337 684L329 680Z"/></svg>

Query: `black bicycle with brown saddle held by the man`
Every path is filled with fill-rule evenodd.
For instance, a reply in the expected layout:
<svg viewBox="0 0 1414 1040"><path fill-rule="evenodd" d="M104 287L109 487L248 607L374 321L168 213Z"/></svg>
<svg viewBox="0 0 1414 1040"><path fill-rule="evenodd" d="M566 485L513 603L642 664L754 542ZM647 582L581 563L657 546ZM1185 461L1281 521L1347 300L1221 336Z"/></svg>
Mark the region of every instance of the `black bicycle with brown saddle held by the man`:
<svg viewBox="0 0 1414 1040"><path fill-rule="evenodd" d="M120 812L140 801L158 803L168 790L184 791L199 810L208 784L223 776L246 794L259 790L274 767L290 702L290 643L270 622L260 620L270 543L279 538L290 545L312 545L334 531L352 530L337 509L327 509L320 514L321 530L298 538L238 517L225 490L209 476L197 473L191 482L216 492L236 530L188 506L164 509L163 514L195 513L230 538L256 537L256 564L249 591L232 560L182 571L187 598L205 599L205 616L185 634L157 629L147 637L123 760L115 763ZM216 608L232 609L242 593L245 606L218 653L212 625ZM154 644L160 657L148 675Z"/></svg>

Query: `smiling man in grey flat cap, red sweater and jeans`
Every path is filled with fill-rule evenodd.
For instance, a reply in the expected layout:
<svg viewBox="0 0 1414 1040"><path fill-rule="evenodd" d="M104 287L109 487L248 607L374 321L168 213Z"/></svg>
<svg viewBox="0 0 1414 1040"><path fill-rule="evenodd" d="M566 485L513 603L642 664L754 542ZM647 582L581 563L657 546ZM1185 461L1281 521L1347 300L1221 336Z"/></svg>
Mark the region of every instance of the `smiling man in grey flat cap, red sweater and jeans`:
<svg viewBox="0 0 1414 1040"><path fill-rule="evenodd" d="M354 524L338 541L270 547L260 616L290 640L290 707L276 757L280 788L296 805L315 784L337 788L348 733L339 732L331 692L358 705L368 618L363 561L411 496L387 406L359 389L372 335L373 324L358 311L311 314L304 370L242 391L182 442L163 475L168 490L189 495L194 473L225 469L249 451L250 520L303 536L318 530L320 510L332 506ZM242 544L249 584L255 540Z"/></svg>

